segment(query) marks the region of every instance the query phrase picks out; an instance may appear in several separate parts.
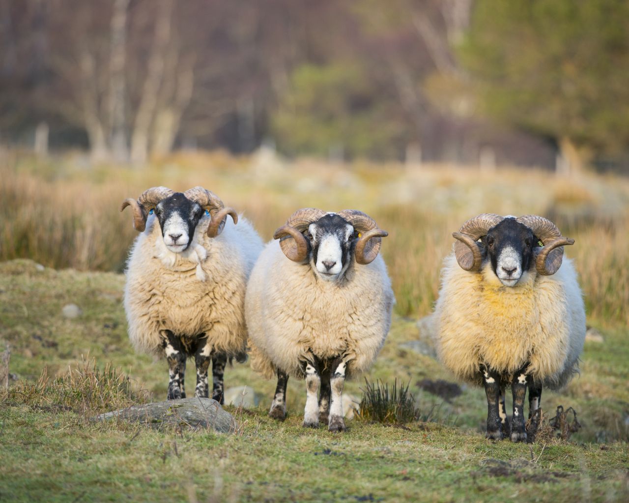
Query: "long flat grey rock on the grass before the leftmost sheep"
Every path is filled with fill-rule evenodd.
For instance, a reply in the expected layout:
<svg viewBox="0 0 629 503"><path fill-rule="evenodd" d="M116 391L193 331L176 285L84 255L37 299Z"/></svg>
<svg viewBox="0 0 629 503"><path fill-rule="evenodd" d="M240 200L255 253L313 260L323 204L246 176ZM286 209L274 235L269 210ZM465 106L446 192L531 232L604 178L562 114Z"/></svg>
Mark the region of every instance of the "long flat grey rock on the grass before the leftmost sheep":
<svg viewBox="0 0 629 503"><path fill-rule="evenodd" d="M140 422L156 429L167 425L193 429L208 428L219 433L233 433L238 429L233 416L223 410L221 405L212 398L181 398L133 405L93 418L94 421L111 421L112 419Z"/></svg>

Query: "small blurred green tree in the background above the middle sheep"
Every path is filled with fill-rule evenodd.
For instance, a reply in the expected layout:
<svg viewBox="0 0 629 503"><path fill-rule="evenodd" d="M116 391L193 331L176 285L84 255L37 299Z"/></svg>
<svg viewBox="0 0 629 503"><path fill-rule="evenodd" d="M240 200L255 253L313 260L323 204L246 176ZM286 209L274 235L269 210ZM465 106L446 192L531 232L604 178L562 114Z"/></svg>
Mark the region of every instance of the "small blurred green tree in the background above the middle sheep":
<svg viewBox="0 0 629 503"><path fill-rule="evenodd" d="M279 147L344 157L396 157L403 125L356 64L301 65L272 117Z"/></svg>

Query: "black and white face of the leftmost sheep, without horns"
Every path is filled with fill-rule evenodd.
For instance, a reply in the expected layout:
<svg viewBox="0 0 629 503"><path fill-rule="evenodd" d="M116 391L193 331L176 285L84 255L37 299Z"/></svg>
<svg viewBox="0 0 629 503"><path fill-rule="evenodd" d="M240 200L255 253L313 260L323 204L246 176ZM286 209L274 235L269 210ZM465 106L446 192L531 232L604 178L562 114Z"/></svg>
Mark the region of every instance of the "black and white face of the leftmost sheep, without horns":
<svg viewBox="0 0 629 503"><path fill-rule="evenodd" d="M175 192L160 201L151 212L155 212L159 220L166 247L174 253L181 253L190 246L194 229L205 210L181 192Z"/></svg>

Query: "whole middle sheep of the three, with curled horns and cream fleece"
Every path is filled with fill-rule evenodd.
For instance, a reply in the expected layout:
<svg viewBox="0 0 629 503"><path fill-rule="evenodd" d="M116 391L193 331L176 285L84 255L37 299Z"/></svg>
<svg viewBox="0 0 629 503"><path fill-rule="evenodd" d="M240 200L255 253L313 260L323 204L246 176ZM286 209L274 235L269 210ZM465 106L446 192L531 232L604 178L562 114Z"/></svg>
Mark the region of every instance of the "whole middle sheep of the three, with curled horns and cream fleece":
<svg viewBox="0 0 629 503"><path fill-rule="evenodd" d="M378 255L387 233L362 212L295 212L253 268L245 316L252 368L277 389L269 415L286 417L289 375L306 378L303 425L345 429L345 378L370 368L391 325L391 281ZM320 390L320 397L318 392Z"/></svg>

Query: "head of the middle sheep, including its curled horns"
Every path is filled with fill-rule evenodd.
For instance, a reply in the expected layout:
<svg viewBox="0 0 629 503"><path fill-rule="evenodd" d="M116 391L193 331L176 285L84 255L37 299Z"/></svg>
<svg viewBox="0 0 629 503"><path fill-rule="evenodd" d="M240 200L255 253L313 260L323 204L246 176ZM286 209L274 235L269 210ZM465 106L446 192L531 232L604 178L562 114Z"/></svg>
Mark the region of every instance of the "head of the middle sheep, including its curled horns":
<svg viewBox="0 0 629 503"><path fill-rule="evenodd" d="M302 208L291 215L286 225L276 230L282 252L294 262L309 263L323 280L343 277L352 261L369 264L378 255L382 237L388 233L357 210L326 213Z"/></svg>

